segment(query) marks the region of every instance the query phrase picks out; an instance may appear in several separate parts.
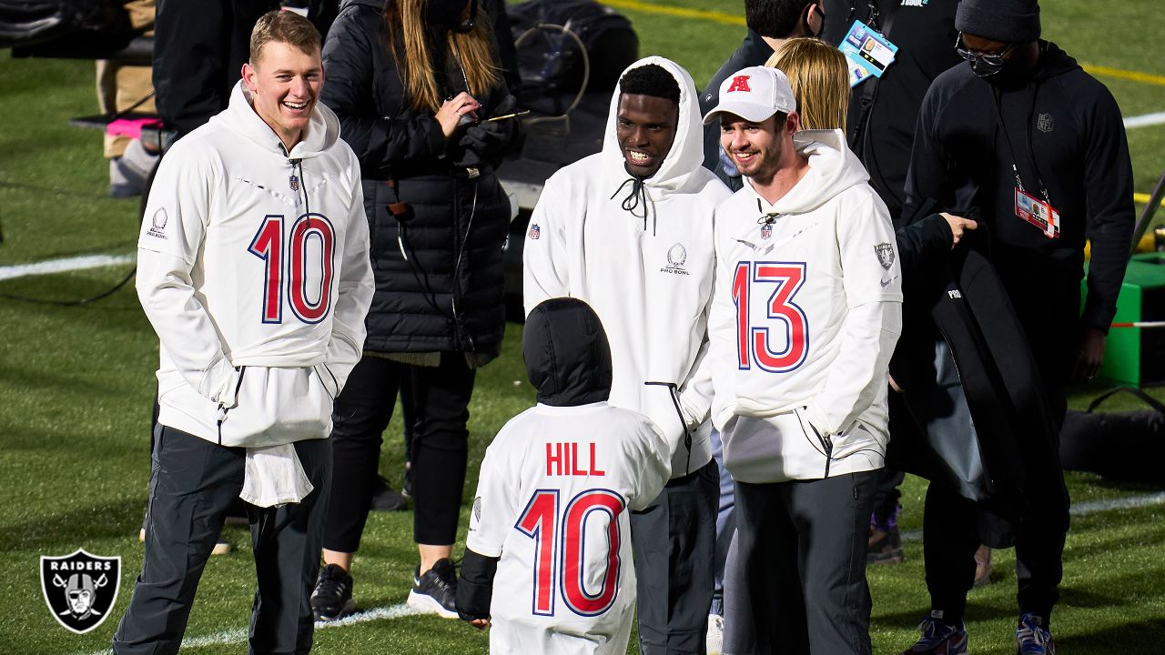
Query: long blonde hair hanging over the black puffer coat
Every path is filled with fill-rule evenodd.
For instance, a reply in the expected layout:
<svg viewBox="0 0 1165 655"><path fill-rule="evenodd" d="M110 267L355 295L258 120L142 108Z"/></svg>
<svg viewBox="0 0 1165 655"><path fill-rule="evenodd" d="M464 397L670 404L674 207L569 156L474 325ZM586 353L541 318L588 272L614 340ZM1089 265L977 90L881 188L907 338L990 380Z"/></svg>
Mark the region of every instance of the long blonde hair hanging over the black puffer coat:
<svg viewBox="0 0 1165 655"><path fill-rule="evenodd" d="M425 29L425 9L429 0L389 0L384 3L384 27L388 30L388 51L404 83L404 97L417 111L437 112L445 101L433 73L432 43ZM402 52L397 52L396 31L401 33ZM475 24L468 34L446 33L449 52L459 59L469 94L479 100L501 82L489 45L489 16L479 6Z"/></svg>

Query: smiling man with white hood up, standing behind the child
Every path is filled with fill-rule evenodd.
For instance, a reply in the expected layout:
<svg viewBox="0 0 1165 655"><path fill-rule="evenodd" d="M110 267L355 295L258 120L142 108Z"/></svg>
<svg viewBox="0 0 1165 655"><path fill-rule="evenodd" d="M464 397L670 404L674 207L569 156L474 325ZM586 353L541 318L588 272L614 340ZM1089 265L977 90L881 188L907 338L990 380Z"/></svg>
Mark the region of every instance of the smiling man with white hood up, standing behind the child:
<svg viewBox="0 0 1165 655"><path fill-rule="evenodd" d="M729 191L700 165L700 110L675 62L631 64L602 152L546 181L525 244L525 307L585 301L610 339L610 404L659 427L671 481L631 515L640 649L702 653L712 603L719 472L697 376L712 294L712 218Z"/></svg>

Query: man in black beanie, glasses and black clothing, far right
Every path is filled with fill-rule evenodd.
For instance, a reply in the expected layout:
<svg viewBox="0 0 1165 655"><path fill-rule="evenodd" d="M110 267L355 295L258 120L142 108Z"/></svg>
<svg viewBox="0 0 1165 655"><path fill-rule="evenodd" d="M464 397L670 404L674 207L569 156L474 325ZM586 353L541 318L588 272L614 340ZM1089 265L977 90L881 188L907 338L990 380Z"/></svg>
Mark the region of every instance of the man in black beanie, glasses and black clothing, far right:
<svg viewBox="0 0 1165 655"><path fill-rule="evenodd" d="M1039 38L1035 0L962 0L955 28L968 65L944 72L926 93L904 213L926 203L960 216L977 212L1058 434L1067 382L1094 376L1103 361L1124 277L1134 207L1121 112L1101 83ZM1092 263L1081 311L1086 237ZM1055 652L1050 621L1068 503L1051 458L1023 462L1030 472L1057 471L1036 476L1040 483L1029 484L1026 503L1017 508L1016 639L1023 655ZM924 521L931 613L908 653L966 652L962 613L979 545L974 512L974 503L931 485Z"/></svg>

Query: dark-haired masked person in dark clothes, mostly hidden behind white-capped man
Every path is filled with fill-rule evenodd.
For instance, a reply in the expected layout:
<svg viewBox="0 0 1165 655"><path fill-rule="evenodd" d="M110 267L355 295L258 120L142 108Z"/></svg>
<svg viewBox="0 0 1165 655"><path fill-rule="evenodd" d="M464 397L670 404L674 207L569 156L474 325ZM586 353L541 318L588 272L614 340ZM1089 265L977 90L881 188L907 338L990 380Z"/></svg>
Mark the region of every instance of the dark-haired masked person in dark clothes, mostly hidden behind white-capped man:
<svg viewBox="0 0 1165 655"><path fill-rule="evenodd" d="M825 3L820 0L744 0L748 34L725 61L700 94L700 111L720 103L720 83L748 66L761 66L781 45L798 36L819 36L825 30ZM741 188L740 172L720 147L720 125L704 127L704 168L716 174L729 189Z"/></svg>

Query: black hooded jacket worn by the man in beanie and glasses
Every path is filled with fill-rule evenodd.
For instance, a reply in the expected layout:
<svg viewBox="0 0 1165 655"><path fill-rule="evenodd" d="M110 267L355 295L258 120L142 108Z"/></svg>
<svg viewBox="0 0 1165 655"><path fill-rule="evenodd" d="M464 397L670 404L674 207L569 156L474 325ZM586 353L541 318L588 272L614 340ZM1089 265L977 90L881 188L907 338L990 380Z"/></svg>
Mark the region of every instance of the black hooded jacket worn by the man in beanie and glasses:
<svg viewBox="0 0 1165 655"><path fill-rule="evenodd" d="M1001 76L1004 73L1000 73ZM1015 212L1015 172L1040 196L1042 179L1060 213L1050 239ZM1080 322L1108 331L1134 228L1132 167L1111 93L1054 43L1039 42L1026 82L991 84L959 64L931 85L919 111L908 207L934 202L953 213L979 211L990 228L993 263L1032 339L1046 382L1062 386L1076 338L1085 239L1092 241Z"/></svg>

